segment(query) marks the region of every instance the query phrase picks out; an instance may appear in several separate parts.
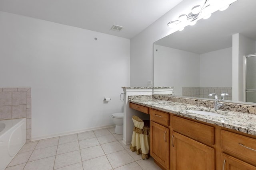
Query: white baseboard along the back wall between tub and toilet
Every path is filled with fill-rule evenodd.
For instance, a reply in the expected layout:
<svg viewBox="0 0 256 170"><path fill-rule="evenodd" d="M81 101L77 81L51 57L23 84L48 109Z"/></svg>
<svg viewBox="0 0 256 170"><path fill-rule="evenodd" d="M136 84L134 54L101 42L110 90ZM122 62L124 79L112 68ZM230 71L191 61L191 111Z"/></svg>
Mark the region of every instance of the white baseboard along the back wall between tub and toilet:
<svg viewBox="0 0 256 170"><path fill-rule="evenodd" d="M48 139L48 138L52 138L52 137L60 137L60 136L65 136L65 135L72 135L74 133L82 133L82 132L87 132L87 131L94 131L94 130L98 130L98 129L110 128L110 127L115 127L115 126L116 125L106 125L106 126L100 126L100 127L92 127L92 128L88 128L88 129L80 129L80 130L77 130L77 131L66 131L66 132L52 134L52 135L46 135L46 136L40 136L40 137L32 137L31 141L38 141L38 140L41 140L41 139Z"/></svg>

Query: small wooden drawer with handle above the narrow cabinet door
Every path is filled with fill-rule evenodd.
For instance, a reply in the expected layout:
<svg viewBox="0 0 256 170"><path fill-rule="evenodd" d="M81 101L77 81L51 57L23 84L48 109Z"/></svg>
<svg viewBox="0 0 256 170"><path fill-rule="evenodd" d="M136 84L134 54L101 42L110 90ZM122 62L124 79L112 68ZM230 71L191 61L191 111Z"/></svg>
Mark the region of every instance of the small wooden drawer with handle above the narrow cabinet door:
<svg viewBox="0 0 256 170"><path fill-rule="evenodd" d="M150 109L150 121L157 122L161 125L169 126L169 114L162 111Z"/></svg>

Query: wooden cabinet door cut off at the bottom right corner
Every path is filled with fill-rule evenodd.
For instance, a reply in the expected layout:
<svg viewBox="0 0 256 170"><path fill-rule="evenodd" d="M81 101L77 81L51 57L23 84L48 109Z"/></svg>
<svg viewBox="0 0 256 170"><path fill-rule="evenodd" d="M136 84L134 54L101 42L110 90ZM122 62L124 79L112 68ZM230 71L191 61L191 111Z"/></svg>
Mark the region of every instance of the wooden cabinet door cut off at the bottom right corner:
<svg viewBox="0 0 256 170"><path fill-rule="evenodd" d="M223 170L256 170L256 166L252 166L227 154L221 154Z"/></svg>

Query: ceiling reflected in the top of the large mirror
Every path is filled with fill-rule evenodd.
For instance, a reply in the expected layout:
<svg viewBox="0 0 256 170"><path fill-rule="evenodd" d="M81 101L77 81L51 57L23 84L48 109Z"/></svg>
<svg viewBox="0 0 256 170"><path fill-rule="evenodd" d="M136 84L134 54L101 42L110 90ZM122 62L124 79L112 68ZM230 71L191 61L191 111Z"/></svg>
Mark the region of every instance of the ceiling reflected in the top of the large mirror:
<svg viewBox="0 0 256 170"><path fill-rule="evenodd" d="M156 41L155 44L203 54L232 47L232 35L240 33L256 41L256 0L238 0L225 11L217 11Z"/></svg>

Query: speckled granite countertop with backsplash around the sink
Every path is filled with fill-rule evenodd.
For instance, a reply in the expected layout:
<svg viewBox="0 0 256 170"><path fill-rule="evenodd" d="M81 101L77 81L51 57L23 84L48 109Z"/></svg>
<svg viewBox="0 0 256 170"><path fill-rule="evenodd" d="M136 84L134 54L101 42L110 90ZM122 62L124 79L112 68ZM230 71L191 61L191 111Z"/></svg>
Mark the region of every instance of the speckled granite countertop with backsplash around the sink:
<svg viewBox="0 0 256 170"><path fill-rule="evenodd" d="M175 102L174 102L175 100ZM154 109L167 111L176 115L181 115L184 117L188 117L191 119L196 119L198 121L203 121L206 123L211 123L214 125L218 125L220 127L226 127L228 129L234 129L236 131L240 131L243 133L248 133L250 135L256 135L256 114L243 113L233 111L235 109L243 110L241 108L236 107L251 107L251 110L255 109L255 106L246 106L246 105L234 105L234 104L226 104L224 106L225 110L214 110L212 108L214 103L213 101L198 101L195 100L193 104L193 100L180 98L180 97L168 97L168 96L129 96L129 101L135 104L140 104L142 106L151 107ZM203 106L201 106L202 104ZM210 106L210 107L208 107ZM223 106L222 106L223 107ZM227 114L226 117L214 117L214 116L206 116L200 115L196 113L190 113L186 110L205 110L205 111L213 111L219 112L222 114ZM227 111L229 109L229 111ZM232 110L233 109L233 110Z"/></svg>

